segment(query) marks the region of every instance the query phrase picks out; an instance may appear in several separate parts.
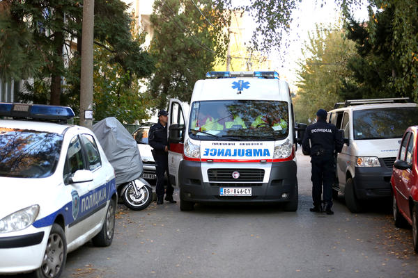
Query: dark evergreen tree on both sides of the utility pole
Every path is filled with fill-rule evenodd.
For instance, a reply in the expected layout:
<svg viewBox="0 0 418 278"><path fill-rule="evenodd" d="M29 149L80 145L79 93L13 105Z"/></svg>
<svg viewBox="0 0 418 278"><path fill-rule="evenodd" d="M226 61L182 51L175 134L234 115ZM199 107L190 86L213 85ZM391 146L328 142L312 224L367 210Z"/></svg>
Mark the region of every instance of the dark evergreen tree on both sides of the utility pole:
<svg viewBox="0 0 418 278"><path fill-rule="evenodd" d="M33 83L26 83L29 93L20 94L24 101L65 105L78 99L82 2L7 0L1 4L6 8L0 9L0 45L6 49L0 51L0 76L33 77ZM94 33L95 44L109 51L109 64L121 65L132 80L148 76L153 60L132 37L132 19L126 9L120 0L96 0ZM19 32L22 38L15 36ZM14 49L19 59L10 57L7 49Z"/></svg>

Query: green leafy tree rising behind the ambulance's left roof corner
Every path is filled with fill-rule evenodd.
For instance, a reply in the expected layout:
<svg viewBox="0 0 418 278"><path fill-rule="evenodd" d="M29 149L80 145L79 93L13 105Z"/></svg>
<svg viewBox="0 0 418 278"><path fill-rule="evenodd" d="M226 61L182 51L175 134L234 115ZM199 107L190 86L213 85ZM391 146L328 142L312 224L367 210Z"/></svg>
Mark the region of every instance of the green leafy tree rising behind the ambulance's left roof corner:
<svg viewBox="0 0 418 278"><path fill-rule="evenodd" d="M150 51L156 71L148 89L156 107L166 108L171 97L189 101L194 83L226 53L230 18L222 0L155 1Z"/></svg>

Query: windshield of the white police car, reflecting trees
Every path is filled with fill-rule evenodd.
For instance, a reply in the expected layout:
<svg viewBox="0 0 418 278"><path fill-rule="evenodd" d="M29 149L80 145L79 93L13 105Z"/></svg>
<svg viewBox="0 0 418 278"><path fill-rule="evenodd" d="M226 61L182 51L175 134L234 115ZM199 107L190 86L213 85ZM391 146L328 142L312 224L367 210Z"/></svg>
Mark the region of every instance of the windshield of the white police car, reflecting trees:
<svg viewBox="0 0 418 278"><path fill-rule="evenodd" d="M56 168L63 136L0 127L0 177L43 178Z"/></svg>

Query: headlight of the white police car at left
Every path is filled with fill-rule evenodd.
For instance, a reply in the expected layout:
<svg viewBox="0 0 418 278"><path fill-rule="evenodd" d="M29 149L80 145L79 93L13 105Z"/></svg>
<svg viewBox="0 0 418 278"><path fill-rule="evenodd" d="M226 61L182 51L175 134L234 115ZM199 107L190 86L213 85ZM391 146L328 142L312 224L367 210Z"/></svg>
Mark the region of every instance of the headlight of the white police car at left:
<svg viewBox="0 0 418 278"><path fill-rule="evenodd" d="M34 204L6 216L0 220L0 233L26 229L35 221L38 213L39 206Z"/></svg>

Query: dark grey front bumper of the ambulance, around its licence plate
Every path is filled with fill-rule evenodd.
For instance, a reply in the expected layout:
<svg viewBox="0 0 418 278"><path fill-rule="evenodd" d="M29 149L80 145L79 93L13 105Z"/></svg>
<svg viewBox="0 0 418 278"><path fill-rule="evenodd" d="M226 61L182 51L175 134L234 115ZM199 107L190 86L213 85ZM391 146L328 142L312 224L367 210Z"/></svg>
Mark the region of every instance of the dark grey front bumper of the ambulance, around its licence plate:
<svg viewBox="0 0 418 278"><path fill-rule="evenodd" d="M214 183L203 182L201 162L181 161L180 195L195 203L277 203L288 202L297 191L295 161L270 163L268 183ZM242 163L245 167L245 163ZM239 170L239 167L237 168ZM251 188L251 196L221 196L220 188Z"/></svg>

